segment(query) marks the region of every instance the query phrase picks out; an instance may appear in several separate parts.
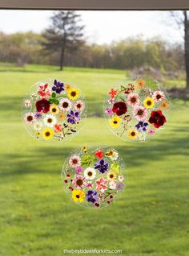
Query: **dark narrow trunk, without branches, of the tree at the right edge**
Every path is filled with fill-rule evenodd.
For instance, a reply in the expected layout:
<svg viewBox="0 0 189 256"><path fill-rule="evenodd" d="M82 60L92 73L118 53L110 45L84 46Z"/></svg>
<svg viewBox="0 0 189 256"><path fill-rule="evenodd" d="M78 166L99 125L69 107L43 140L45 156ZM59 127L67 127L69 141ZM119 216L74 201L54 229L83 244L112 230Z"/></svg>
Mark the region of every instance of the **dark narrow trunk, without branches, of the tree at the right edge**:
<svg viewBox="0 0 189 256"><path fill-rule="evenodd" d="M184 50L185 50L185 64L187 74L187 87L189 89L189 19L187 17L187 10L183 10L184 15Z"/></svg>

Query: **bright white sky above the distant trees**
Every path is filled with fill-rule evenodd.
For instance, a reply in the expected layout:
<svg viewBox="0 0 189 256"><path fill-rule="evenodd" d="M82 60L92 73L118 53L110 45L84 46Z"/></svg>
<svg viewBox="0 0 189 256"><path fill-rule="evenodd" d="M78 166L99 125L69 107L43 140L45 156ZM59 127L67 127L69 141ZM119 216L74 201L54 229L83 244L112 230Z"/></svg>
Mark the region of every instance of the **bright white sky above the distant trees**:
<svg viewBox="0 0 189 256"><path fill-rule="evenodd" d="M50 25L51 10L0 10L0 31L41 32ZM80 10L85 37L89 43L111 43L131 36L144 39L161 36L169 42L182 42L182 33L168 11Z"/></svg>

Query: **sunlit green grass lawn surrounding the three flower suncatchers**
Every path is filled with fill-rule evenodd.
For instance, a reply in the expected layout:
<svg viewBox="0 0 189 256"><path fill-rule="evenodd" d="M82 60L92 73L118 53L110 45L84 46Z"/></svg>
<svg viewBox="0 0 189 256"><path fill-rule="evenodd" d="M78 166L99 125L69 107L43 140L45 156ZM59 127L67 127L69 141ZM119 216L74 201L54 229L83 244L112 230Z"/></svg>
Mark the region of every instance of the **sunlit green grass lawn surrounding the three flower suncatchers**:
<svg viewBox="0 0 189 256"><path fill-rule="evenodd" d="M49 77L78 85L86 96L89 118L71 142L37 142L22 124L22 97ZM153 141L122 142L102 113L107 89L125 78L116 70L0 67L0 255L95 248L128 256L189 255L189 102L172 100L170 122ZM62 163L84 142L115 147L127 163L127 189L106 209L82 208L62 187Z"/></svg>

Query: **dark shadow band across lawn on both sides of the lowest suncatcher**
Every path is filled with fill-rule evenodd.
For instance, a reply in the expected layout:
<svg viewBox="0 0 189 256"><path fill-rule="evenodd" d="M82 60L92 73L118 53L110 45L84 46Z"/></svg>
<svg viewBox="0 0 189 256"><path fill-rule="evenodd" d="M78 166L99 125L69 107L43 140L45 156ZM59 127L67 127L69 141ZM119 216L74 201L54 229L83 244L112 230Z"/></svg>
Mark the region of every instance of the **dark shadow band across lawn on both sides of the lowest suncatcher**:
<svg viewBox="0 0 189 256"><path fill-rule="evenodd" d="M153 142L144 142L139 144L128 144L126 146L119 146L116 149L120 155L123 156L127 163L127 167L149 167L151 161L159 161L158 166L160 167L163 161L167 161L167 156L185 155L187 161L187 154L189 151L189 141L187 130L172 130L171 134L182 133L182 138L172 137L163 139L156 138ZM112 145L112 147L114 147ZM32 173L48 173L57 175L61 171L63 161L70 152L73 151L73 147L64 147L63 150L56 147L40 147L34 149L26 155L2 155L2 163L8 163L2 171L2 176L9 175L26 175ZM187 164L187 163L186 163ZM171 163L170 168L174 168ZM3 166L2 166L3 167ZM1 179L3 182L3 179Z"/></svg>

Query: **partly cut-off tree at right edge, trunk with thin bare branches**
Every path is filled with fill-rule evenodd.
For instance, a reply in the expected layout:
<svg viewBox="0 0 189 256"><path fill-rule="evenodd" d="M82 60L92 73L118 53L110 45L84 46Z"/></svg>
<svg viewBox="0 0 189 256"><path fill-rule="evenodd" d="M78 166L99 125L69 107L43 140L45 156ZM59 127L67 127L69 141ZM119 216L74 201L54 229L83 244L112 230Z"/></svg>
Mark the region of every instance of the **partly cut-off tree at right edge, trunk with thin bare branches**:
<svg viewBox="0 0 189 256"><path fill-rule="evenodd" d="M179 28L183 28L184 39L184 56L185 56L185 69L186 69L186 89L189 89L189 16L187 10L171 11L172 17Z"/></svg>

